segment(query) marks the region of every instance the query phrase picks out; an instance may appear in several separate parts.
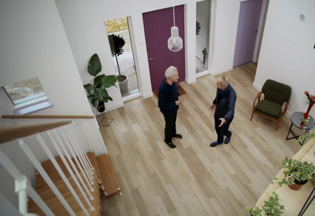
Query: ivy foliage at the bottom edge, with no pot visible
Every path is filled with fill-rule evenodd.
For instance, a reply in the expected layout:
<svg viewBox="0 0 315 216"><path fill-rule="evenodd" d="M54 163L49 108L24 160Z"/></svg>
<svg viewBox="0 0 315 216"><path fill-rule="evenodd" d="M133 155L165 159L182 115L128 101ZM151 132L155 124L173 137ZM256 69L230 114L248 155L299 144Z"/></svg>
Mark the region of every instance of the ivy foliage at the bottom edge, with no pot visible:
<svg viewBox="0 0 315 216"><path fill-rule="evenodd" d="M245 211L250 212L251 216L279 216L283 214L284 206L279 205L279 198L276 192L272 192L272 196L269 199L264 201L264 205L261 208L258 207L245 207Z"/></svg>

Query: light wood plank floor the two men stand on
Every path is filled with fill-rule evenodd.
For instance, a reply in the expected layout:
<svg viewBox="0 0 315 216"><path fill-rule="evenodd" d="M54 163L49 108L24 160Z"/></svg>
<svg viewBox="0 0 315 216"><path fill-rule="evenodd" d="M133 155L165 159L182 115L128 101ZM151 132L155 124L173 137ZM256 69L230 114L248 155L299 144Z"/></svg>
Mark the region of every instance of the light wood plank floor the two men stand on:
<svg viewBox="0 0 315 216"><path fill-rule="evenodd" d="M288 116L278 131L268 119L249 120L258 93L252 86L256 67L249 63L223 74L237 92L228 145L209 146L216 140L209 107L219 75L180 83L187 94L177 115L183 139L173 140L175 149L163 141L164 119L155 95L110 111L114 120L101 133L123 196L104 198L103 215L249 215L244 207L255 205L282 159L301 148L285 140Z"/></svg>

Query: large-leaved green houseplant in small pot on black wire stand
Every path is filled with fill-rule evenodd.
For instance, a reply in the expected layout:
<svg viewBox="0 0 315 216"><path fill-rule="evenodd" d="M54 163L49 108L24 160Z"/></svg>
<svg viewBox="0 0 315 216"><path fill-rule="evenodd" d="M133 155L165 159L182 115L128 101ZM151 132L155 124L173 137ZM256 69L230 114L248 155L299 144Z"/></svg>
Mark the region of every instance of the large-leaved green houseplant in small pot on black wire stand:
<svg viewBox="0 0 315 216"><path fill-rule="evenodd" d="M100 58L95 53L90 58L88 64L88 72L90 75L94 76L93 85L86 84L83 85L83 87L89 94L89 102L93 105L93 107L96 107L100 113L104 112L105 110L104 102L106 103L109 100L113 100L112 97L108 95L106 88L116 86L115 83L117 82L117 78L115 77L115 75L98 75L101 70L102 65L100 64Z"/></svg>

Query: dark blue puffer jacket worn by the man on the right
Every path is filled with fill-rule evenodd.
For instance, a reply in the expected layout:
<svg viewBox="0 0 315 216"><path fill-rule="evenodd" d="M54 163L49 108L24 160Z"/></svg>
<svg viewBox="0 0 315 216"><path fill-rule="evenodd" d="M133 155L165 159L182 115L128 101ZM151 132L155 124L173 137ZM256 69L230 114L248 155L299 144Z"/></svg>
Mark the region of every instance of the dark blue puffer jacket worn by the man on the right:
<svg viewBox="0 0 315 216"><path fill-rule="evenodd" d="M221 100L218 101L219 89L217 89L215 100L213 104L215 104L215 116L217 118L226 118L226 120L230 120L234 116L235 110L235 102L236 102L236 92L232 88L225 95L222 96Z"/></svg>

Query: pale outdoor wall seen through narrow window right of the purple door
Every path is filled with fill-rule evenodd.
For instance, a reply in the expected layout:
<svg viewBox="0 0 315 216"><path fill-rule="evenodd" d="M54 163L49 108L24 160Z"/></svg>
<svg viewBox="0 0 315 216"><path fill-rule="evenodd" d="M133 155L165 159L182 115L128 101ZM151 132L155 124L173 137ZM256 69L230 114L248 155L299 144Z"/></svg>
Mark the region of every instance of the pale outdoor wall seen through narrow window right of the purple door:
<svg viewBox="0 0 315 216"><path fill-rule="evenodd" d="M196 36L196 56L203 61L203 49L206 47L209 53L209 29L210 29L210 0L197 3L197 21L200 23L199 35ZM208 57L208 55L207 55ZM206 58L206 64L208 62Z"/></svg>

